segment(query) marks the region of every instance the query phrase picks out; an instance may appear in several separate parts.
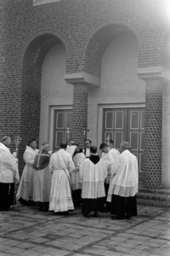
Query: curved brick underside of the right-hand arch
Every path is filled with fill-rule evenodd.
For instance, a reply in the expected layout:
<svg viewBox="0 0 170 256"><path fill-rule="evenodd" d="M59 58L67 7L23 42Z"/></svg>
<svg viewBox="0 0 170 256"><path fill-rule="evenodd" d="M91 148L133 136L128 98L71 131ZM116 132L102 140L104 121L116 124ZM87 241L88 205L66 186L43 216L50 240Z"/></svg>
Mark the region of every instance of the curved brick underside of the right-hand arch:
<svg viewBox="0 0 170 256"><path fill-rule="evenodd" d="M83 47L82 60L85 72L100 77L101 58L105 49L114 39L129 32L133 32L138 40L139 55L144 53L144 37L142 32L139 32L131 24L127 24L127 22L122 20L113 20L95 28L90 33Z"/></svg>

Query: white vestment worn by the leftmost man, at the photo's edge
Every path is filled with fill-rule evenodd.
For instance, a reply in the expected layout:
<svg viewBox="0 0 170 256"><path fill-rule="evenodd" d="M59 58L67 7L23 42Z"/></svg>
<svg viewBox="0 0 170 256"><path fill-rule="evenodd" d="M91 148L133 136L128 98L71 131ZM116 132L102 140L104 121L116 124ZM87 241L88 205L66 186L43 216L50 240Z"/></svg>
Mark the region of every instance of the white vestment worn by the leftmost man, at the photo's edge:
<svg viewBox="0 0 170 256"><path fill-rule="evenodd" d="M17 160L9 149L0 143L0 183L14 183L14 172L16 172L16 179L19 181Z"/></svg>

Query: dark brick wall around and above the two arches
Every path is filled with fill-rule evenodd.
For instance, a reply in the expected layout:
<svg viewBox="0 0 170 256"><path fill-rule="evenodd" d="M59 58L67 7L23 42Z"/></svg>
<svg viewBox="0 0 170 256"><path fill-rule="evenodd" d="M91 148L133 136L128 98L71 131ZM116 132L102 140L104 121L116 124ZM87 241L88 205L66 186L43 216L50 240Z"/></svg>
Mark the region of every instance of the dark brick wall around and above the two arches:
<svg viewBox="0 0 170 256"><path fill-rule="evenodd" d="M61 0L32 6L31 0L0 2L0 137L38 138L42 61L59 40L66 73L100 76L105 47L121 33L139 43L139 67L169 67L168 0ZM162 31L165 36L161 37Z"/></svg>

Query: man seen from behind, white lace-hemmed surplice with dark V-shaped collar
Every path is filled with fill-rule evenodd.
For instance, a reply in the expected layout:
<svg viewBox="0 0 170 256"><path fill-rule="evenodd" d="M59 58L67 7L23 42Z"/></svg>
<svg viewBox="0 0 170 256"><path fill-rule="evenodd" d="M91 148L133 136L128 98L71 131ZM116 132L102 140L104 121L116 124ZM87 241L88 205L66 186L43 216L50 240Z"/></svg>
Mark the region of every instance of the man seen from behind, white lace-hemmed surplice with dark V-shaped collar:
<svg viewBox="0 0 170 256"><path fill-rule="evenodd" d="M99 158L97 148L90 147L90 157L82 162L80 166L82 177L82 214L89 217L94 212L105 212L105 187L104 181L107 176L105 161Z"/></svg>

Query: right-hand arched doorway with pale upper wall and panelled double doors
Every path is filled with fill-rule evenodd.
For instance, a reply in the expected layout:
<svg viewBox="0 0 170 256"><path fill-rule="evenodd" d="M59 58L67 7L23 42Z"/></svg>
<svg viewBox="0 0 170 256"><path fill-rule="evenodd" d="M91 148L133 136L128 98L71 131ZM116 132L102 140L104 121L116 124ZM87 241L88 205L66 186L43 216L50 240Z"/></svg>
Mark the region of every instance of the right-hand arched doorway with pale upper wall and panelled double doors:
<svg viewBox="0 0 170 256"><path fill-rule="evenodd" d="M91 38L86 58L87 72L100 76L100 87L88 88L89 137L99 146L110 136L117 149L127 140L142 177L145 82L137 76L138 40L126 26L105 26Z"/></svg>

